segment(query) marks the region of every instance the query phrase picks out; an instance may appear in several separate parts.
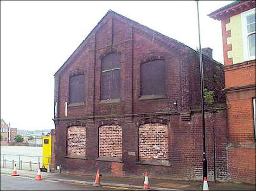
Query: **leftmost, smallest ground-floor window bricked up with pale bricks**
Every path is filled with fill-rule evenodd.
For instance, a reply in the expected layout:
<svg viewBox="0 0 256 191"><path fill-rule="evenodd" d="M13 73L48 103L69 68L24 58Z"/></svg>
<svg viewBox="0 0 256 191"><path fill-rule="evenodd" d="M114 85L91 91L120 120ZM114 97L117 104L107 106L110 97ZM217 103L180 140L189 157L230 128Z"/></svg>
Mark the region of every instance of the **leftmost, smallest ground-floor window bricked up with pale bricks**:
<svg viewBox="0 0 256 191"><path fill-rule="evenodd" d="M86 128L71 126L67 131L67 155L74 157L86 156Z"/></svg>

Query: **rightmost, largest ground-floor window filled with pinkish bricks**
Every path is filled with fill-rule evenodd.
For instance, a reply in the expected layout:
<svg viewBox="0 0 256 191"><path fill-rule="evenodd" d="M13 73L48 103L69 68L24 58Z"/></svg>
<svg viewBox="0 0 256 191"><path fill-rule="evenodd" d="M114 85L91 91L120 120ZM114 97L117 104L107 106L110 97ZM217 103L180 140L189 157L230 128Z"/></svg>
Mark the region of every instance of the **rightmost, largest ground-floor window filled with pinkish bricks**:
<svg viewBox="0 0 256 191"><path fill-rule="evenodd" d="M149 123L139 127L139 160L169 160L168 127Z"/></svg>

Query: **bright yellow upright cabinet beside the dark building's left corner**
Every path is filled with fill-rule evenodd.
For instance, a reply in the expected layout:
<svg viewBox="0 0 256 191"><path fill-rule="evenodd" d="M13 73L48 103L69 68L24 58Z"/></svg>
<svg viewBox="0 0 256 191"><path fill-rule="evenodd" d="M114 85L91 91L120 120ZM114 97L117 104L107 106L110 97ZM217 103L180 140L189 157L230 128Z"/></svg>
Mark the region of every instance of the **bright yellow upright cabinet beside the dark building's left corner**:
<svg viewBox="0 0 256 191"><path fill-rule="evenodd" d="M51 163L51 135L43 136L43 166L48 168L48 163Z"/></svg>

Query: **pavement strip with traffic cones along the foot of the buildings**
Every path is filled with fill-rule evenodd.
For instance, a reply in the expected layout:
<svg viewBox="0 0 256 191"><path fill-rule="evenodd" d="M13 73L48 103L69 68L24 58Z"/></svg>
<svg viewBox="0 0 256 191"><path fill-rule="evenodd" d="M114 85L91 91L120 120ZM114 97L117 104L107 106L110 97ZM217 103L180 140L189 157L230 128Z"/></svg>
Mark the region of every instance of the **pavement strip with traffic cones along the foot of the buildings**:
<svg viewBox="0 0 256 191"><path fill-rule="evenodd" d="M13 170L11 168L0 168L1 174L11 176ZM35 179L37 171L17 170L19 177ZM58 182L68 182L74 184L93 185L96 174L70 174L70 173L46 173L41 172L43 180L51 180ZM199 191L203 190L203 182L189 180L174 180L158 177L148 177L150 190L159 191ZM112 186L120 188L120 190L143 190L144 176L121 176L114 177L107 174L102 174L100 177L102 186ZM255 191L255 184L234 183L234 182L208 182L209 190L214 191Z"/></svg>

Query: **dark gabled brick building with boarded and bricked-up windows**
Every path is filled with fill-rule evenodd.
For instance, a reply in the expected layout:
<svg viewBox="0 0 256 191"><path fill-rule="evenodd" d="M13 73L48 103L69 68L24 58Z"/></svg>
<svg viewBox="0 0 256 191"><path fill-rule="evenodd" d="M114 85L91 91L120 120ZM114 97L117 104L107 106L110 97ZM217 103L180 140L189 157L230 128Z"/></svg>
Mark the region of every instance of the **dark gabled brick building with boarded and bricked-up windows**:
<svg viewBox="0 0 256 191"><path fill-rule="evenodd" d="M208 176L225 179L224 70L204 50ZM54 77L54 169L202 178L198 52L109 10Z"/></svg>

